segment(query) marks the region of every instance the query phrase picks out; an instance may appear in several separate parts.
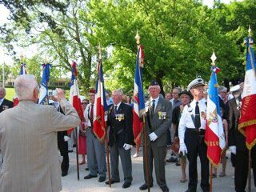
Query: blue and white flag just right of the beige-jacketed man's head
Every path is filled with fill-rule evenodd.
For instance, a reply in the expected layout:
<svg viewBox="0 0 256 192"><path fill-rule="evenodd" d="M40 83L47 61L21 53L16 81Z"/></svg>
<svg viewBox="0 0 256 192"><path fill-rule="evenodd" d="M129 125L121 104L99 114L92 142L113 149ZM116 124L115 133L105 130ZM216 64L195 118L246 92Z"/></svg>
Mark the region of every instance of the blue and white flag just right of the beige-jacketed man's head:
<svg viewBox="0 0 256 192"><path fill-rule="evenodd" d="M51 65L49 63L42 64L42 81L40 85L40 96L38 103L42 105L48 104L48 82L50 78L50 67Z"/></svg>

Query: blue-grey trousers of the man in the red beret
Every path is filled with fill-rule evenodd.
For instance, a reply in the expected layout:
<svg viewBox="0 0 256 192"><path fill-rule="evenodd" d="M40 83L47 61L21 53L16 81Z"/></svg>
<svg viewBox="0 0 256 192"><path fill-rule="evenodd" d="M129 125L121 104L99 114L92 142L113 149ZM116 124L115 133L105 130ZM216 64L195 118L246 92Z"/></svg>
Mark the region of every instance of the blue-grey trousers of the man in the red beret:
<svg viewBox="0 0 256 192"><path fill-rule="evenodd" d="M87 162L91 175L106 177L106 152L104 142L99 142L91 128L86 130Z"/></svg>

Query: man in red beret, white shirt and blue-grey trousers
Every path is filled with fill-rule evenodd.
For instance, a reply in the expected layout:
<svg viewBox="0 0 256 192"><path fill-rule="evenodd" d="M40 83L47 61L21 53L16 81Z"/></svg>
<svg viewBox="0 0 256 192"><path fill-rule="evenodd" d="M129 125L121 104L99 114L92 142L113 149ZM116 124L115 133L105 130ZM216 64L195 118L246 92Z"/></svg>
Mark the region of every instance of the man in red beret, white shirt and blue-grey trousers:
<svg viewBox="0 0 256 192"><path fill-rule="evenodd" d="M95 90L90 90L89 93L90 103L84 110L84 117L86 120L86 150L87 150L87 162L90 174L87 174L84 179L97 178L99 174L98 182L105 182L106 180L106 153L105 143L100 142L94 134L94 114L95 114ZM98 172L98 173L97 173Z"/></svg>

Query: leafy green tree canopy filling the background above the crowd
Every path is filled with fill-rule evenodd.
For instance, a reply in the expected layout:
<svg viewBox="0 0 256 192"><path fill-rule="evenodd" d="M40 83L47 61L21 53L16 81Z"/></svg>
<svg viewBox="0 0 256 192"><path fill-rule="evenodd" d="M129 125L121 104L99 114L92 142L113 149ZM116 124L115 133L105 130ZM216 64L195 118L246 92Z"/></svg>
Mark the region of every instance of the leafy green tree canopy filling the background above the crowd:
<svg viewBox="0 0 256 192"><path fill-rule="evenodd" d="M44 54L66 72L70 62L76 60L79 84L84 91L94 86L98 45L103 49L106 88L133 90L137 30L145 50L145 87L152 79L165 90L186 87L197 76L208 81L213 51L217 55L216 65L222 69L218 82L228 86L229 82L243 79L242 42L249 25L256 29L256 0L229 5L215 1L213 8L202 5L200 0L0 3L11 13L11 22L0 28L2 45L11 52L14 42L23 46L36 44L39 53L34 61L40 62Z"/></svg>

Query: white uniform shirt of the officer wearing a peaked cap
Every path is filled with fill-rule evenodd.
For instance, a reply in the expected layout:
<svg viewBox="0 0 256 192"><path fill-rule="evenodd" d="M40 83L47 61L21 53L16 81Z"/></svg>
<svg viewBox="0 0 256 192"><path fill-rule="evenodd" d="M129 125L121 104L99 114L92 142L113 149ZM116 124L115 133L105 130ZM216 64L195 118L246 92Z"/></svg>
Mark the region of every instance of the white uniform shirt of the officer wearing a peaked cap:
<svg viewBox="0 0 256 192"><path fill-rule="evenodd" d="M180 139L184 139L184 134L186 131L186 128L189 129L195 129L194 122L192 120L191 114L194 115L195 118L195 106L196 101L190 102L190 107L186 105L182 112L182 117L180 118L179 124L178 124L178 137ZM206 129L206 102L204 99L201 99L198 101L199 106L199 114L200 114L200 122L201 126L199 129L205 130Z"/></svg>

